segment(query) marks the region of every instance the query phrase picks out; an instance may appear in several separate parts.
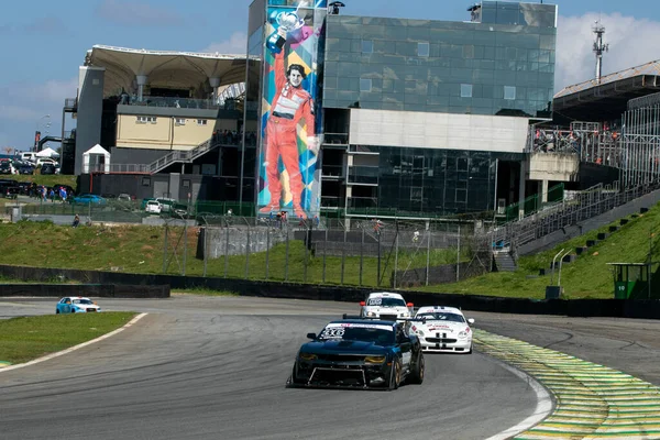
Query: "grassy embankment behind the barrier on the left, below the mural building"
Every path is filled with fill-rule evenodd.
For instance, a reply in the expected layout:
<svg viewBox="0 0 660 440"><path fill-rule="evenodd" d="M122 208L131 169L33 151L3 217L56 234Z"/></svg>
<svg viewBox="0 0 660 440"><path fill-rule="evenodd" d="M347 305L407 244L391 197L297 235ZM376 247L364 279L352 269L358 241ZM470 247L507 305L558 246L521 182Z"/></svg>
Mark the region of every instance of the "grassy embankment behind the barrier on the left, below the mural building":
<svg viewBox="0 0 660 440"><path fill-rule="evenodd" d="M165 250L165 228L148 226L79 227L56 226L51 222L21 221L15 224L0 223L0 264L28 265L54 268L80 268L92 271L117 271L125 273L161 274L166 267L168 274L184 273L201 276L204 261L196 258L197 228L170 227ZM187 245L185 244L187 241ZM466 257L465 255L463 256ZM431 265L455 262L455 251L438 250L431 252ZM389 250L383 251L381 258L383 284L389 283L395 257ZM267 261L267 264L266 264ZM248 258L232 255L207 262L207 276L227 276L235 278L324 282L328 284L360 285L360 256L312 256L306 252L300 241L292 240L288 249L285 243L277 244L271 251L253 253ZM362 285L377 286L378 262L375 257L362 258ZM307 276L305 275L307 265ZM287 270L288 266L288 270ZM415 253L399 252L397 267L425 267L426 251Z"/></svg>

